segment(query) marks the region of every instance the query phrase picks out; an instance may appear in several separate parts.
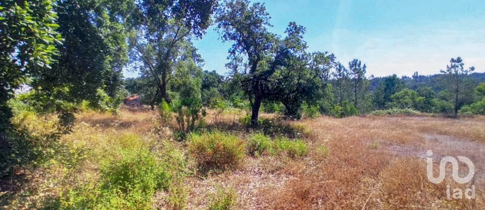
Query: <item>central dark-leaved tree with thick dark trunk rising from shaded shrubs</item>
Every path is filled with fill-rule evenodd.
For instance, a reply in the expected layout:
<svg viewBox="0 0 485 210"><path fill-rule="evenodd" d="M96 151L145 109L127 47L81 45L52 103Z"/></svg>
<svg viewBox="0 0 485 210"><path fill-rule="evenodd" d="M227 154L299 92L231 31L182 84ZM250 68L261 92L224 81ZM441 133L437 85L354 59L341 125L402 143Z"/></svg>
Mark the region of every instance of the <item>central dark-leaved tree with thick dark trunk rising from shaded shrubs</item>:
<svg viewBox="0 0 485 210"><path fill-rule="evenodd" d="M258 114L263 101L261 82L274 73L274 69L262 69L260 62L273 48L274 34L268 32L269 14L263 4L250 5L248 0L228 0L219 8L216 15L217 27L223 41L233 41L229 49L234 74L243 75L242 82L247 84L245 90L250 95L252 105L251 124L258 124ZM247 56L249 71L239 71L241 55ZM276 66L274 66L275 68Z"/></svg>

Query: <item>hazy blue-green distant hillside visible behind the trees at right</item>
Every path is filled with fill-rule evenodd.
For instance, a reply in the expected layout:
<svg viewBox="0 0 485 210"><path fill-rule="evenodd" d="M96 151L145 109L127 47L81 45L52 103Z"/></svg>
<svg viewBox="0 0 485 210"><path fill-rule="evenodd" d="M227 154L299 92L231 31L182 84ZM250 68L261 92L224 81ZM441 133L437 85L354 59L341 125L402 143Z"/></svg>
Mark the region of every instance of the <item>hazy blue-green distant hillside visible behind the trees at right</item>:
<svg viewBox="0 0 485 210"><path fill-rule="evenodd" d="M485 72L483 73L472 73L471 78L476 82L476 85L480 82L485 82ZM385 77L375 77L370 80L370 91L374 91L379 87L381 81ZM403 76L401 79L406 83L406 87L412 90L416 90L420 87L431 87L435 92L440 92L444 88L443 86L443 74L433 74L433 75L418 75L416 77Z"/></svg>

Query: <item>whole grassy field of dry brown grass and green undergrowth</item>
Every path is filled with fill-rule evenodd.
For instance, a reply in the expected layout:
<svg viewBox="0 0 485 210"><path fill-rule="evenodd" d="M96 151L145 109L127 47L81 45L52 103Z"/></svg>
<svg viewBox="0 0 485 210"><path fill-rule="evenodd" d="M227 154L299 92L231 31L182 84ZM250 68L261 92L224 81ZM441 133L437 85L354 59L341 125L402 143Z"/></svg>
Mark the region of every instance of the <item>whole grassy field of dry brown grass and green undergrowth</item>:
<svg viewBox="0 0 485 210"><path fill-rule="evenodd" d="M17 169L12 177L2 180L0 208L81 208L79 203L89 201L98 203L90 206L96 209L485 209L484 117L321 116L286 121L262 114L265 120L261 127L250 129L241 120L245 115L240 110L208 111L199 139L215 132L232 135L245 147L237 163L210 167L215 163L201 166L197 158L198 150L192 143L197 137L174 140L176 123L161 124L156 111L122 109L119 116L80 113L72 132L60 137L62 149L56 147L55 154L47 155L42 163ZM25 123L36 135L32 128L38 126L33 125L38 122L35 120L49 119L18 123ZM306 147L285 150L275 146L287 152L248 153L248 139L255 133L266 135L275 145L284 142L276 139L301 139ZM448 164L444 182L429 182L429 149L435 177L442 157L461 155L475 165L472 181L454 182ZM126 179L116 181L116 167L138 170L136 161L135 165L130 161L123 164L133 151L155 158L155 163L143 159L141 164L161 162L169 181L150 187L158 186L151 173L158 166L137 173L120 172L129 177L127 182L138 185L129 185ZM459 166L464 177L466 165ZM145 183L148 178L155 184ZM125 187L107 193L100 187L106 183ZM474 185L475 199L447 199L447 185L452 195L455 188L465 191ZM139 186L150 190L136 191ZM107 200L99 198L108 195Z"/></svg>

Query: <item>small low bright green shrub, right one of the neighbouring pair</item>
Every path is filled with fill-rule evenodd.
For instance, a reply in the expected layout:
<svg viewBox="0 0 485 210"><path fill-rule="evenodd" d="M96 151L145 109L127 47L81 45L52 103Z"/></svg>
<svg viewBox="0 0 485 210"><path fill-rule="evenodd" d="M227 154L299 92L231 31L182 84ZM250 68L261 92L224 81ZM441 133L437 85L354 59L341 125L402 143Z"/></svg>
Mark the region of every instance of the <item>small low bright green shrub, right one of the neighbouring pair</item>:
<svg viewBox="0 0 485 210"><path fill-rule="evenodd" d="M289 157L303 157L308 153L308 146L303 140L278 138L274 141L274 150Z"/></svg>

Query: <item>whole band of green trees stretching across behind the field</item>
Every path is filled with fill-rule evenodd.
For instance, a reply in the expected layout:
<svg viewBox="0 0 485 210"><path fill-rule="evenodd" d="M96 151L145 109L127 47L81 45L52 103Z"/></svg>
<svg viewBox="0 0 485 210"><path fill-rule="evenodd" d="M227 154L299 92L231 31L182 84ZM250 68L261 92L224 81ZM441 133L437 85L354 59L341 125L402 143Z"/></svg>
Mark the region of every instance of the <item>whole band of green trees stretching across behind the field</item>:
<svg viewBox="0 0 485 210"><path fill-rule="evenodd" d="M389 108L483 114L483 85L470 81L474 68L464 68L460 57L442 70L447 82L439 93L406 86L395 75L371 90L364 61L309 52L305 27L290 22L275 34L270 19L264 4L248 0L2 1L2 145L16 97L38 113L57 113L66 125L81 105L116 113L127 91L152 108L248 108L253 126L261 109L294 119ZM211 25L231 44L225 76L203 71L192 43ZM140 76L124 79L124 68ZM23 86L30 91L18 97Z"/></svg>

